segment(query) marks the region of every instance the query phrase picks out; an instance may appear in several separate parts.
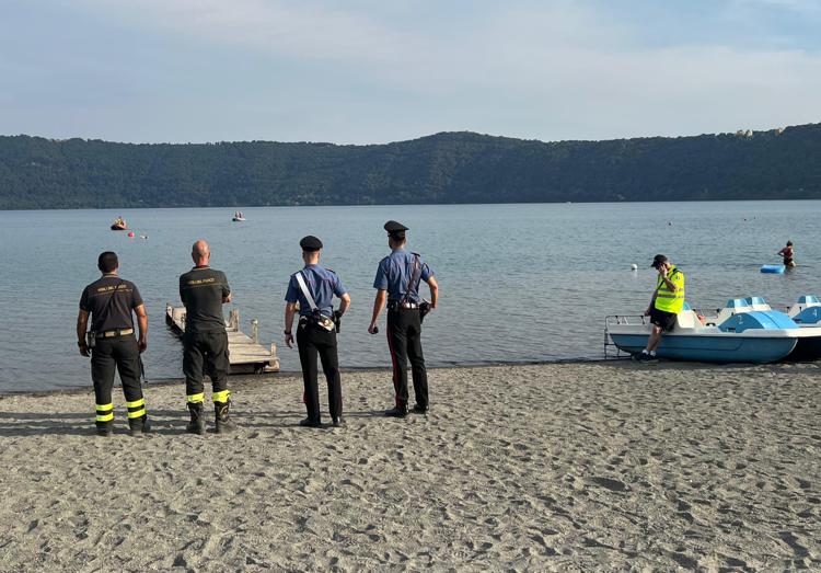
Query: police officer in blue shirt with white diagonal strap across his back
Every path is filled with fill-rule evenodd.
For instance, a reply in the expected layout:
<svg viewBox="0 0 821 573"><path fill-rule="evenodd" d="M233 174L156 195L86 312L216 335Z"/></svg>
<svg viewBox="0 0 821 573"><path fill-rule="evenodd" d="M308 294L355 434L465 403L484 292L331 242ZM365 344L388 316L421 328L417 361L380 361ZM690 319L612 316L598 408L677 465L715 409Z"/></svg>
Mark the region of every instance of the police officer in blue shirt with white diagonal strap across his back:
<svg viewBox="0 0 821 573"><path fill-rule="evenodd" d="M334 426L344 424L342 417L342 380L339 359L336 352L336 332L343 314L350 307L350 296L343 287L339 277L329 268L320 266L322 241L316 237L304 237L299 245L302 248L302 261L305 266L291 275L288 291L285 295L285 342L293 347L293 316L299 302L299 325L297 326L297 346L299 362L302 365L302 381L305 393L308 417L299 424L308 427L322 427L320 415L320 390L317 386L319 355L322 371L325 374L328 393L328 410ZM340 299L339 310L334 312L333 299Z"/></svg>

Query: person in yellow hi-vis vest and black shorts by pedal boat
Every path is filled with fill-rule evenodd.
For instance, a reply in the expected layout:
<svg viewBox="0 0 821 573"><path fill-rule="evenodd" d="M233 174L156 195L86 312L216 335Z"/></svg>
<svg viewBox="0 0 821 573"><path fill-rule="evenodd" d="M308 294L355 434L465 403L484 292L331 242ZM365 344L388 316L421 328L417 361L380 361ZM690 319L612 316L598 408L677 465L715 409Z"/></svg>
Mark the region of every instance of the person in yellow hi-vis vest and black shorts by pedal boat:
<svg viewBox="0 0 821 573"><path fill-rule="evenodd" d="M684 308L684 273L663 254L657 254L650 266L658 271L659 276L650 306L645 310L645 317L650 317L652 331L647 339L647 347L633 356L639 362L656 360L656 346L663 333L673 329L677 314Z"/></svg>

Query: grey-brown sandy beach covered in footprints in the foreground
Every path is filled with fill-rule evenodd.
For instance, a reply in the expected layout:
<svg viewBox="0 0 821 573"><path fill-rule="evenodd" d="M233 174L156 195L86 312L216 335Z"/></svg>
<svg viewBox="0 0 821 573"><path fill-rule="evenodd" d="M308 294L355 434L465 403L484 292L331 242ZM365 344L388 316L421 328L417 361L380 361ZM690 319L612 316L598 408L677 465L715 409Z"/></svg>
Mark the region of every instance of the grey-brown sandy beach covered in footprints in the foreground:
<svg viewBox="0 0 821 573"><path fill-rule="evenodd" d="M393 420L386 371L345 373L347 426L326 429L297 427L301 379L284 375L232 380L242 427L205 437L183 433L182 383L147 388L138 438L118 389L107 439L90 385L9 396L0 568L819 570L820 375L437 369L429 416Z"/></svg>

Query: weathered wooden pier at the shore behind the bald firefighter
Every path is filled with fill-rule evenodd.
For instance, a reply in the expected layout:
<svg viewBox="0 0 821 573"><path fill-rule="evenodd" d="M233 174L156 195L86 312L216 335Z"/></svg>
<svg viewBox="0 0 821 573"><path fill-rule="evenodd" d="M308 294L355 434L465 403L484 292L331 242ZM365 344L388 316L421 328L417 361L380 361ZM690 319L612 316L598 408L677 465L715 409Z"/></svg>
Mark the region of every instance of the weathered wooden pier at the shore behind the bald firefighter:
<svg viewBox="0 0 821 573"><path fill-rule="evenodd" d="M178 336L185 332L185 308L165 306L165 322ZM259 344L259 323L251 321L252 334L248 336L240 330L240 311L234 309L228 314L226 332L228 333L228 359L231 364L229 374L267 374L279 371L277 346L271 343L270 349Z"/></svg>

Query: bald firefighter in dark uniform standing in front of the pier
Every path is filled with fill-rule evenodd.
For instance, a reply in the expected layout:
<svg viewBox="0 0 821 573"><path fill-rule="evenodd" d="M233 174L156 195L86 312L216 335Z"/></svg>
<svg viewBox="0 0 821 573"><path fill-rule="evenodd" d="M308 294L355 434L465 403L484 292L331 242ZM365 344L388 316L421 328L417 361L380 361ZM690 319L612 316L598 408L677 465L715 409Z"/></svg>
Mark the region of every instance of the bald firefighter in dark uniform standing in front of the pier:
<svg viewBox="0 0 821 573"><path fill-rule="evenodd" d="M203 406L205 368L211 379L217 433L229 432L235 425L228 415L231 392L228 390L228 333L222 305L231 302L231 288L222 271L208 266L211 251L207 242L194 243L192 259L194 268L180 277L180 298L185 305L183 373L190 411L186 431L199 435L206 431Z"/></svg>

